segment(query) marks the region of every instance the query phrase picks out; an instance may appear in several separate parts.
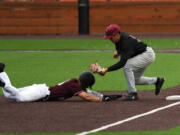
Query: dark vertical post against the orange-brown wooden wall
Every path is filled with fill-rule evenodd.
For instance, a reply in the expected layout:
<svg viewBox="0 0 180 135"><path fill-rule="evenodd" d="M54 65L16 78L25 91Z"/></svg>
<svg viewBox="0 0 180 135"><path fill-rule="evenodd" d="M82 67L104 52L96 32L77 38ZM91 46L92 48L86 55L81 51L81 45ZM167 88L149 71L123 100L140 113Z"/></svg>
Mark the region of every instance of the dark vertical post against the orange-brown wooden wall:
<svg viewBox="0 0 180 135"><path fill-rule="evenodd" d="M89 0L78 0L79 34L89 34Z"/></svg>

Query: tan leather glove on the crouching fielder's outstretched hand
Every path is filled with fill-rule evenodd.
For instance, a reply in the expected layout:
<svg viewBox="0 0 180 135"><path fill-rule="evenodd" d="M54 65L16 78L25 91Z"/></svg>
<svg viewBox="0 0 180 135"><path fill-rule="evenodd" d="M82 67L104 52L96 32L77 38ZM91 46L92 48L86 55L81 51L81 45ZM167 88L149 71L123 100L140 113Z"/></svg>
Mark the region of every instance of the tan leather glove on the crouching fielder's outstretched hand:
<svg viewBox="0 0 180 135"><path fill-rule="evenodd" d="M90 65L90 70L91 72L98 73L102 76L107 72L107 70L105 68L102 68L97 62Z"/></svg>

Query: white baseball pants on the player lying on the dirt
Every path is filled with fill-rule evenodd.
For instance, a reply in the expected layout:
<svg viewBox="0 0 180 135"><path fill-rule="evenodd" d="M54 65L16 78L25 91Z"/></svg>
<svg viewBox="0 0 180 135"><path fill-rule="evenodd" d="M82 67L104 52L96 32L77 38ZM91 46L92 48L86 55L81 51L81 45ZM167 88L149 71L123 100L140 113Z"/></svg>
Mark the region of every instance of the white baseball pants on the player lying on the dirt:
<svg viewBox="0 0 180 135"><path fill-rule="evenodd" d="M37 101L50 95L49 87L46 84L33 84L23 88L12 86L8 75L5 72L0 73L0 80L5 83L3 90L4 96L17 102Z"/></svg>

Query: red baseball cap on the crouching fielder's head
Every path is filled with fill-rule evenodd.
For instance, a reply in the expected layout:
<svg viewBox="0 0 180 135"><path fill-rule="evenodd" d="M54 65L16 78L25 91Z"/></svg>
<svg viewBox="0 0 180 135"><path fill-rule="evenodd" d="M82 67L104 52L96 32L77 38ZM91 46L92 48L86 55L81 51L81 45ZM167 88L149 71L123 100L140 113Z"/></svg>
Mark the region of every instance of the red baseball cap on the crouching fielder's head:
<svg viewBox="0 0 180 135"><path fill-rule="evenodd" d="M117 24L110 24L106 27L104 39L110 39L112 36L120 32L120 27Z"/></svg>

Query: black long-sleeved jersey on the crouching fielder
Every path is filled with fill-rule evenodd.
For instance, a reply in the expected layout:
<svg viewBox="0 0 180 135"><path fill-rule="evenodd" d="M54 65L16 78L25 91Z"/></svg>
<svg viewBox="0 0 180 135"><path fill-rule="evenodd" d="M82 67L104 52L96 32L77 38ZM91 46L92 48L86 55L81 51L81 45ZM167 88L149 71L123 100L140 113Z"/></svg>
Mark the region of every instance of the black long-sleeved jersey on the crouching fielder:
<svg viewBox="0 0 180 135"><path fill-rule="evenodd" d="M121 56L121 59L116 64L110 66L108 71L114 71L124 67L129 58L137 56L146 51L147 45L141 42L139 39L125 32L120 32L120 35L121 38L119 42L115 44L115 47L118 54Z"/></svg>

